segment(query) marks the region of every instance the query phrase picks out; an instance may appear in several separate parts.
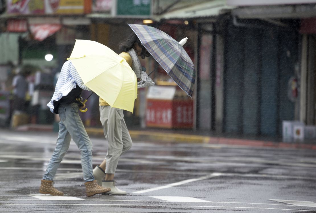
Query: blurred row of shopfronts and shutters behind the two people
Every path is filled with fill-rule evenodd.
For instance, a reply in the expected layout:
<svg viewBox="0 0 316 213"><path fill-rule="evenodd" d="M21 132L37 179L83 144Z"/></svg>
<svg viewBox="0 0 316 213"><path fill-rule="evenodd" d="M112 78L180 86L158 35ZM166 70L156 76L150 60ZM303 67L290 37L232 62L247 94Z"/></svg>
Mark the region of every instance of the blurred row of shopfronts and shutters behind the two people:
<svg viewBox="0 0 316 213"><path fill-rule="evenodd" d="M316 0L2 0L0 13L3 125L13 113L6 88L16 68L33 66L25 122L54 124L46 104L75 39L119 53L133 23L188 37L184 49L197 73L191 99L162 68L155 71L156 86L140 89L135 112L125 112L129 126L293 137L297 125L316 137ZM148 73L157 65L142 63ZM99 127L96 95L87 107L82 120Z"/></svg>

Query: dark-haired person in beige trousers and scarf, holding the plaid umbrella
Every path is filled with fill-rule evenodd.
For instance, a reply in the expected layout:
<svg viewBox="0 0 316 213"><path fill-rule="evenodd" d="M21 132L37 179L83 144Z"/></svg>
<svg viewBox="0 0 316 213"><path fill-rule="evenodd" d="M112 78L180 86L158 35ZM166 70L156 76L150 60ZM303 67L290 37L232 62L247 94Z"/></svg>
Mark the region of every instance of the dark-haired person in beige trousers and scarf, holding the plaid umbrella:
<svg viewBox="0 0 316 213"><path fill-rule="evenodd" d="M141 58L149 57L149 52L143 47L135 33L131 33L125 41L119 46L122 52L119 56L123 57L131 66L136 74L137 87L152 86L155 83L144 72L138 56ZM100 98L100 121L102 123L104 135L108 141L107 154L104 161L93 170L94 178L99 185L109 187L109 194L126 194L115 186L114 174L119 162L119 158L126 151L131 149L132 140L125 124L123 109L117 109L109 106ZM103 180L105 176L105 180Z"/></svg>

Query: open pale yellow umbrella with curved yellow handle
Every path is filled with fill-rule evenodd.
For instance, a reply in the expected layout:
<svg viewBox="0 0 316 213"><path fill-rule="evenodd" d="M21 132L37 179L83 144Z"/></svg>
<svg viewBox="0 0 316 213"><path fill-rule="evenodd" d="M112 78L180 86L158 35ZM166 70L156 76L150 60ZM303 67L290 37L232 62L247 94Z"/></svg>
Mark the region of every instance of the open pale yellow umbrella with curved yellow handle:
<svg viewBox="0 0 316 213"><path fill-rule="evenodd" d="M128 63L107 46L76 40L70 58L83 83L111 107L133 112L137 78Z"/></svg>

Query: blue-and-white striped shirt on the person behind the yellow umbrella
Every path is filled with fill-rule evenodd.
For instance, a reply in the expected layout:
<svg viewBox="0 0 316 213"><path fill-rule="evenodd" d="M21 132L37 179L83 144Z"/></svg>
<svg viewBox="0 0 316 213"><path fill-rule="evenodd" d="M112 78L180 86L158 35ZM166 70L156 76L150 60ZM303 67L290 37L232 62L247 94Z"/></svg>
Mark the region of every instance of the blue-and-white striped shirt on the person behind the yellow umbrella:
<svg viewBox="0 0 316 213"><path fill-rule="evenodd" d="M76 84L83 89L83 90L89 90L90 89L83 84L83 81L78 74L78 71L76 70L75 66L72 64L70 60L66 61L61 68L59 78L57 80L56 86L55 86L55 92L52 97L52 100L47 104L47 106L50 108L52 112L54 112L54 101L60 100L63 96L68 95L68 93L76 88Z"/></svg>

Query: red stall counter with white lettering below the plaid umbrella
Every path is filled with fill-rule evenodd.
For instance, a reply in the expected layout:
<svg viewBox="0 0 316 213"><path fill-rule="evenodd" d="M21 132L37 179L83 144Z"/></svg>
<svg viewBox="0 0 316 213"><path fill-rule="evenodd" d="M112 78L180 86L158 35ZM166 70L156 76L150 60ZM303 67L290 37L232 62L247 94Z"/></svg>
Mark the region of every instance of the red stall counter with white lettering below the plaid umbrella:
<svg viewBox="0 0 316 213"><path fill-rule="evenodd" d="M150 86L146 103L147 127L193 127L193 100L177 86Z"/></svg>

